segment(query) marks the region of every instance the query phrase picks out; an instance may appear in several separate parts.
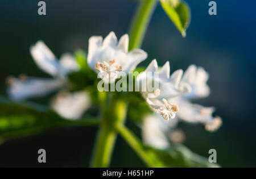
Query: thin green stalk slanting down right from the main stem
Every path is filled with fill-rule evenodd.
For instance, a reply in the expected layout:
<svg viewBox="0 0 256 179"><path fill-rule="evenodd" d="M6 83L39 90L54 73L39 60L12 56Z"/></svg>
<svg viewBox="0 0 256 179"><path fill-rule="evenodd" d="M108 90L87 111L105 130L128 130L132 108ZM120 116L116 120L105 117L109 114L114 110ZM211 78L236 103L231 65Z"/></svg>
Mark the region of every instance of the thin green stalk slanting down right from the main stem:
<svg viewBox="0 0 256 179"><path fill-rule="evenodd" d="M117 127L119 134L126 140L126 142L134 149L134 151L138 154L139 157L147 164L149 167L155 167L156 163L154 163L148 157L148 153L143 148L140 140L129 130L129 128L120 125Z"/></svg>

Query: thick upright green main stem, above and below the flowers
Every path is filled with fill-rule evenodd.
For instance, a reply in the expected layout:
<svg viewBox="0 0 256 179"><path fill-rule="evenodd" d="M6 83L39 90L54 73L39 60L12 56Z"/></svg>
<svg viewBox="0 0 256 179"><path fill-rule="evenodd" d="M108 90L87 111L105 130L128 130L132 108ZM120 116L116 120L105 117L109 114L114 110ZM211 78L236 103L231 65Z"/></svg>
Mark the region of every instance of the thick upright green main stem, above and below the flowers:
<svg viewBox="0 0 256 179"><path fill-rule="evenodd" d="M151 15L158 0L142 0L133 18L130 29L129 49L141 47ZM110 93L108 96L111 95ZM115 139L117 138L116 126L122 126L125 121L127 104L119 99L106 99L106 93L99 93L102 120L96 144L93 150L91 166L108 167L112 156ZM110 104L106 104L110 102Z"/></svg>

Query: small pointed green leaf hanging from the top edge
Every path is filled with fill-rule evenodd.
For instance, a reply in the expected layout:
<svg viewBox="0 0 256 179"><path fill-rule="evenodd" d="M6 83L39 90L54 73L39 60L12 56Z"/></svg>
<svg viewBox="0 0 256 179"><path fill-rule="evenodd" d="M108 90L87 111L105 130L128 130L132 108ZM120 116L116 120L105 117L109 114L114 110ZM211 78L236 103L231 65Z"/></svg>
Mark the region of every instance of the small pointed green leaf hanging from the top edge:
<svg viewBox="0 0 256 179"><path fill-rule="evenodd" d="M181 32L186 36L186 30L191 20L191 12L187 3L181 0L160 0L163 10Z"/></svg>

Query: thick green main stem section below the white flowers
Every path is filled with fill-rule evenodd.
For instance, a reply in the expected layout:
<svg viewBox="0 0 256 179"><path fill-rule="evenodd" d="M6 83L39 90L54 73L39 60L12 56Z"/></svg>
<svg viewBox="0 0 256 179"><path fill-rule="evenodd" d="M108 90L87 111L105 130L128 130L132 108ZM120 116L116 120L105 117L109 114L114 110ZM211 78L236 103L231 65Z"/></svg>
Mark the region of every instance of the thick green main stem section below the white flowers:
<svg viewBox="0 0 256 179"><path fill-rule="evenodd" d="M110 105L105 106L102 110L102 120L94 147L92 167L109 166L117 138L115 126L125 121L127 105L123 100L112 99Z"/></svg>

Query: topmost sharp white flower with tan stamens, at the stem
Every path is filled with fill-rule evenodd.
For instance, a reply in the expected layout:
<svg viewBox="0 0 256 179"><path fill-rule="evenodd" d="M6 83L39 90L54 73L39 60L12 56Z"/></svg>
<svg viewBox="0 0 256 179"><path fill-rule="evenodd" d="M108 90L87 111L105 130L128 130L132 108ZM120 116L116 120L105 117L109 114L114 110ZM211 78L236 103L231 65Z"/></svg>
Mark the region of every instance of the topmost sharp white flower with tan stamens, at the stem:
<svg viewBox="0 0 256 179"><path fill-rule="evenodd" d="M128 73L136 68L141 61L147 58L142 49L133 49L128 52L129 36L123 35L117 40L114 32L110 32L104 40L102 36L92 36L89 39L88 64L96 70L98 77L107 83L118 78L120 72Z"/></svg>

